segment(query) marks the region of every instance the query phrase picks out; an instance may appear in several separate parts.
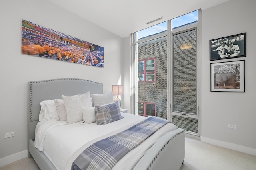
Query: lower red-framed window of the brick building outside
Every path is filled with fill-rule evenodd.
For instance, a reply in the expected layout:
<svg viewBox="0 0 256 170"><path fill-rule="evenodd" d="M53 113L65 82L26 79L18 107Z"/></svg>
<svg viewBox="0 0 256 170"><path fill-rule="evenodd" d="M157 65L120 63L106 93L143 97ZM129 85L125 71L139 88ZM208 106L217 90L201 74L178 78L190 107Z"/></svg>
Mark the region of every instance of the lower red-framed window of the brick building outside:
<svg viewBox="0 0 256 170"><path fill-rule="evenodd" d="M156 104L138 102L138 115L141 116L156 116Z"/></svg>

